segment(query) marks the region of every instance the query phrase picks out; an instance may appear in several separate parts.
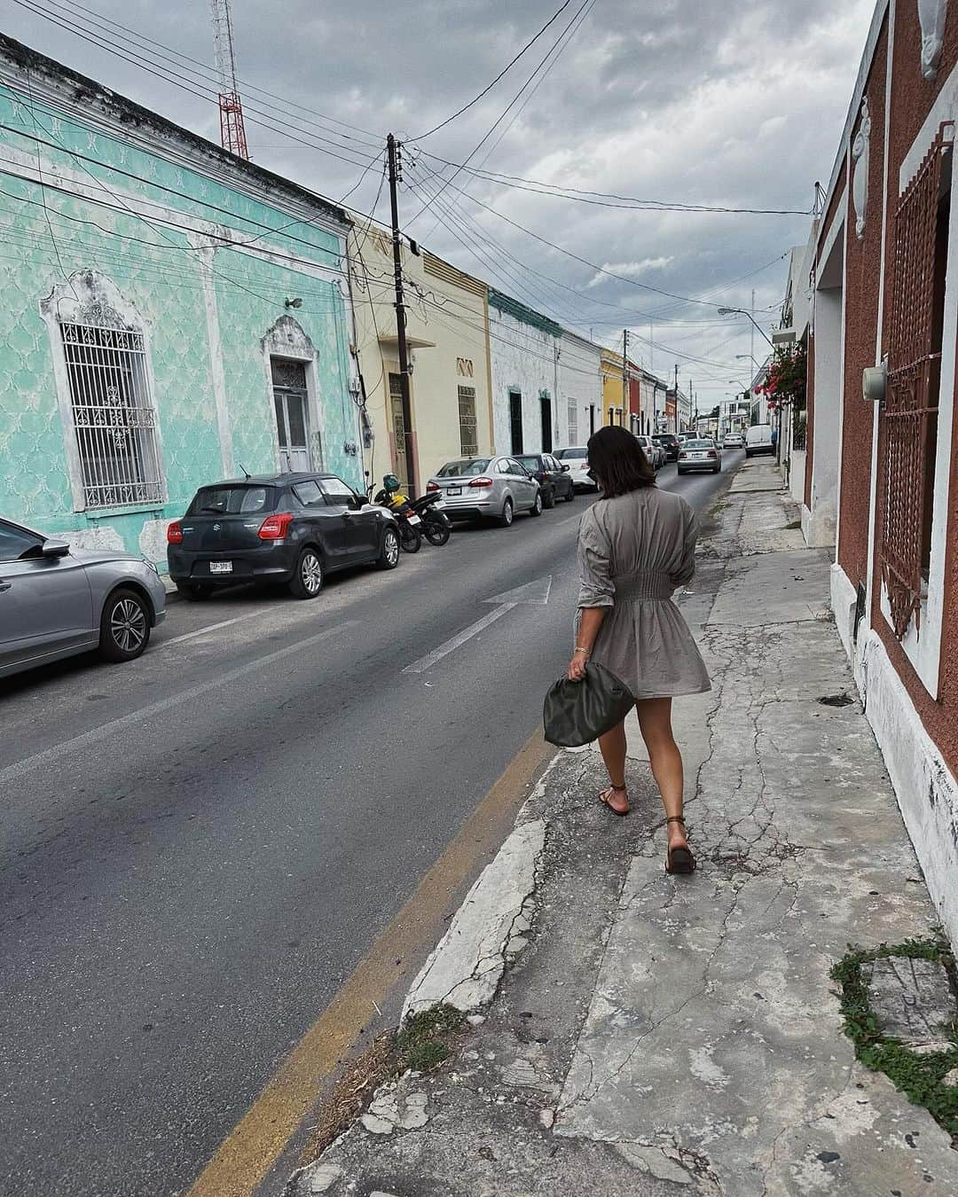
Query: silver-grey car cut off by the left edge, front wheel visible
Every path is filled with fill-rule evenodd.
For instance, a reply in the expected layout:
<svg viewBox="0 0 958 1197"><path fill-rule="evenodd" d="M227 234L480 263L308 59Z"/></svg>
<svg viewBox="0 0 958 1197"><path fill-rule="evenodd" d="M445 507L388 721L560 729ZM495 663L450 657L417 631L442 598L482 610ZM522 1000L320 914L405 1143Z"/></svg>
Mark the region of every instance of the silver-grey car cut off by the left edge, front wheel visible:
<svg viewBox="0 0 958 1197"><path fill-rule="evenodd" d="M91 649L134 661L165 603L152 561L71 548L0 519L0 678Z"/></svg>

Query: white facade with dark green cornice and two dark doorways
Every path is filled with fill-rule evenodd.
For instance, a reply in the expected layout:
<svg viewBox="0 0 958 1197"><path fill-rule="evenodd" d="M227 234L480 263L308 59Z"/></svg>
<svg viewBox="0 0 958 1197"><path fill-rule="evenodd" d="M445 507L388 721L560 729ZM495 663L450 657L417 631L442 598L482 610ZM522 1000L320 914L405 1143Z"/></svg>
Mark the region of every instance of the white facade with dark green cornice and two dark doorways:
<svg viewBox="0 0 958 1197"><path fill-rule="evenodd" d="M563 329L489 291L492 423L496 452L550 452L568 444L568 406L557 402Z"/></svg>

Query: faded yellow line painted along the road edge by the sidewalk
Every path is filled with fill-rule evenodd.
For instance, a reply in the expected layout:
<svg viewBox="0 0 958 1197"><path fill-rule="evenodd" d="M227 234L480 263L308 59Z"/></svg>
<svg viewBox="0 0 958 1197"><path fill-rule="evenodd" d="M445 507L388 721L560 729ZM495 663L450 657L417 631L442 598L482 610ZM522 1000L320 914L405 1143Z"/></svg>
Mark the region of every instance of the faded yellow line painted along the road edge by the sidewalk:
<svg viewBox="0 0 958 1197"><path fill-rule="evenodd" d="M536 770L554 752L536 731L462 824L416 892L375 941L322 1015L293 1047L253 1107L200 1173L188 1197L250 1197L424 943L438 938L448 903L508 833Z"/></svg>

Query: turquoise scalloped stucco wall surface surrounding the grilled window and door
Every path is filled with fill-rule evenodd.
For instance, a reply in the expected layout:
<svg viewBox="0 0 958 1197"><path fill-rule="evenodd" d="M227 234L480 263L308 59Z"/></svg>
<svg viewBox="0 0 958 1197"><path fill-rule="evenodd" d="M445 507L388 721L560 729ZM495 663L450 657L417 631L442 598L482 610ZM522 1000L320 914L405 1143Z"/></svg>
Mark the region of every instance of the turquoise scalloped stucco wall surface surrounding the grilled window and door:
<svg viewBox="0 0 958 1197"><path fill-rule="evenodd" d="M250 472L275 468L261 341L285 314L284 300L295 297L303 300L297 318L319 351L327 430L322 464L358 480L356 458L342 451L357 432L345 356L347 311L335 281L341 235L321 227L322 219L271 233L293 223L287 208L214 182L199 162L192 170L168 160L159 142L135 146L93 129L90 111L91 105L78 105L75 117L54 115L41 99L31 111L17 91L0 89L0 123L13 130L0 132L0 141L13 176L22 176L7 175L2 184L5 241L13 253L0 259L0 511L74 541L162 560L165 523L182 514L198 485L223 476L224 461L232 457ZM43 188L37 144L20 129L48 142L38 147ZM188 158L189 146L181 150ZM159 212L166 218L162 224ZM216 235L255 238L256 248L204 249ZM280 255L299 261L279 265ZM75 292L77 272L109 280L146 336L165 502L74 510L73 432L61 418L55 379L62 346L56 312L44 321L41 303L57 287Z"/></svg>

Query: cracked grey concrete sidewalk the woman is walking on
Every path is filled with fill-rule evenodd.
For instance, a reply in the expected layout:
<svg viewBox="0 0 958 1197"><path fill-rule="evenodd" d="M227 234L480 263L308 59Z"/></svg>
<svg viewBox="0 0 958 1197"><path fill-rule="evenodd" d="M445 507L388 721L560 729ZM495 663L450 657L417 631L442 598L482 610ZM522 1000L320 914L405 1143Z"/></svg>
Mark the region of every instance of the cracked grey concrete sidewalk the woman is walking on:
<svg viewBox="0 0 958 1197"><path fill-rule="evenodd" d="M774 467L742 468L681 598L714 683L675 703L698 873L663 873L635 725L629 819L598 751L559 753L410 995L469 1013L454 1056L291 1193L958 1192L950 1136L841 1029L848 943L934 911L793 521Z"/></svg>

